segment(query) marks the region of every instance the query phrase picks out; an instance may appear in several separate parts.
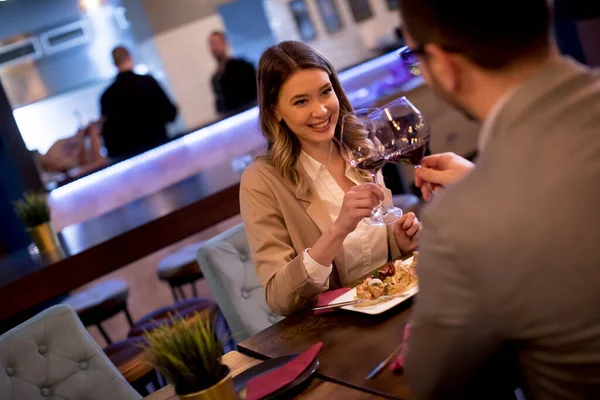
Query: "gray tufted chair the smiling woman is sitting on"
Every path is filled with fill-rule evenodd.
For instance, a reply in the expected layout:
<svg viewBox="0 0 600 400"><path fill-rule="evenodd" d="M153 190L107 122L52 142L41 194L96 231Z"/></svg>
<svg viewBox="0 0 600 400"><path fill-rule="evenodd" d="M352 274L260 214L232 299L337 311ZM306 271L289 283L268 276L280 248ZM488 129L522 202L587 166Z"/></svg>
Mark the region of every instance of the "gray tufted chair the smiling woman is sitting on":
<svg viewBox="0 0 600 400"><path fill-rule="evenodd" d="M198 263L236 343L281 319L267 306L243 224L204 242L198 250Z"/></svg>

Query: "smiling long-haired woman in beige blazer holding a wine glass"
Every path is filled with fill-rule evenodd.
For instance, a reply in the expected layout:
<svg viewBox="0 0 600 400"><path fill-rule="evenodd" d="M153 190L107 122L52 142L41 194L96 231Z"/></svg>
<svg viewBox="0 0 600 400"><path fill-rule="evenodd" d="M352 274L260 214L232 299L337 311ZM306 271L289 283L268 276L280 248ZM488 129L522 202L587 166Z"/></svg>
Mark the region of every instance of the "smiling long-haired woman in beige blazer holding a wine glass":
<svg viewBox="0 0 600 400"><path fill-rule="evenodd" d="M393 229L362 221L391 193L343 160L334 139L352 107L322 55L282 42L257 79L269 152L242 176L241 214L267 303L289 315L413 250L421 225L412 213Z"/></svg>

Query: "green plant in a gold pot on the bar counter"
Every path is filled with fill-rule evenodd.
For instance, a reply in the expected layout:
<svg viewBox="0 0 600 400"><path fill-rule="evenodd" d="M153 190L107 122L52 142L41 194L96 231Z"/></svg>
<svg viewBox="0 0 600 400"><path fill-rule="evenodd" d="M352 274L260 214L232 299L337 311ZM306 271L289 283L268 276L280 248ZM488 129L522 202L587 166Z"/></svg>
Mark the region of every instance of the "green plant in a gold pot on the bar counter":
<svg viewBox="0 0 600 400"><path fill-rule="evenodd" d="M22 199L15 202L14 210L41 253L60 248L44 193L25 193Z"/></svg>

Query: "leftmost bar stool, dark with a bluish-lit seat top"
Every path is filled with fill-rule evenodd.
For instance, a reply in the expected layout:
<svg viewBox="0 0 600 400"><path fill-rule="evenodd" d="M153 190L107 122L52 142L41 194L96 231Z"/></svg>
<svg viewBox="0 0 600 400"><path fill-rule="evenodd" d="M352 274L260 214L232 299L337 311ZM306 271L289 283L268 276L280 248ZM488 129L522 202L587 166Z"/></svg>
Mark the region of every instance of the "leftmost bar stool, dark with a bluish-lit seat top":
<svg viewBox="0 0 600 400"><path fill-rule="evenodd" d="M129 326L133 326L133 320L127 309L127 298L129 287L127 282L113 279L101 282L81 292L75 293L63 301L70 305L84 326L95 325L106 343L112 341L102 328L102 322L120 312L125 313Z"/></svg>

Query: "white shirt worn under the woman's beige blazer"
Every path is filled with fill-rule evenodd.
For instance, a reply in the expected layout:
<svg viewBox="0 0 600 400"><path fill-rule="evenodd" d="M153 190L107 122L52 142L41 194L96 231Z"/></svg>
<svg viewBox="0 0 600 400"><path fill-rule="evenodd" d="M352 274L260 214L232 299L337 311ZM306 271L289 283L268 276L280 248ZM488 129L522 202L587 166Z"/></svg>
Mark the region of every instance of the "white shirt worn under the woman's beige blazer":
<svg viewBox="0 0 600 400"><path fill-rule="evenodd" d="M344 191L335 181L329 170L304 151L300 153L300 163L312 179L319 198L327 206L333 223L340 215L344 201ZM357 171L346 166L346 177L355 184L362 183ZM325 285L333 265L324 266L312 259L304 250L302 262L306 273L313 282ZM385 226L372 227L360 221L354 232L350 233L343 243L346 269L350 279L359 278L369 271L385 264L388 259L388 237Z"/></svg>

